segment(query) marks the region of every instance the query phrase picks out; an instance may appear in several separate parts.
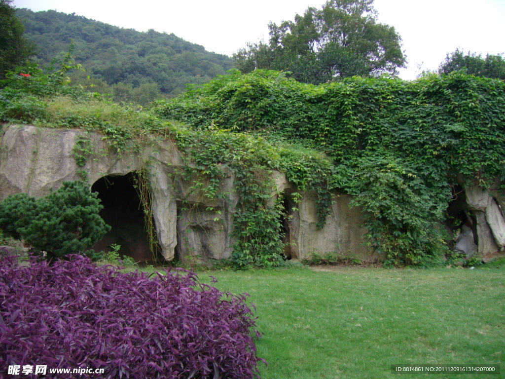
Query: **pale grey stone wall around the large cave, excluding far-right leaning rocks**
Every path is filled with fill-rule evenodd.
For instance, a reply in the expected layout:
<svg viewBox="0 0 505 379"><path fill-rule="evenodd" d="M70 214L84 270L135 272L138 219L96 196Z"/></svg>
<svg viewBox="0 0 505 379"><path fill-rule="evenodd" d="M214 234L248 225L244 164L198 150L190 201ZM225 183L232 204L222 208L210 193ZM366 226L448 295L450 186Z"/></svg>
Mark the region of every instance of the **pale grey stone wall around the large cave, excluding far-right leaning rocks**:
<svg viewBox="0 0 505 379"><path fill-rule="evenodd" d="M84 167L80 167L72 149L77 138L84 134L90 140L94 154L87 159ZM79 129L11 125L4 126L1 138L0 200L20 192L35 197L44 196L51 188L60 187L63 181L80 179L79 170L87 172L92 185L103 177L114 182L110 178L144 169L148 172L153 217L164 259L171 261L194 256L205 261L230 257L234 244L231 227L237 199L233 173L226 164L222 169L221 191L227 195L222 199L209 199L198 192L188 196L192 183L180 175L184 166L182 154L170 140L151 139L140 149L141 153L118 154L103 139L103 135ZM360 226L361 212L357 208L349 208L348 196L335 194L327 224L317 230L315 193L302 194L301 202L294 205L289 194L299 191L283 173L272 175L276 183L272 201L282 193L286 197L286 211L292 215L284 227L285 241L289 242L286 252L292 259L304 259L311 252L340 252L364 260L377 258L362 244L366 230ZM189 200L189 205L183 206L182 199ZM131 214L123 218L134 217ZM215 221L216 216L218 221ZM120 227L133 228L129 221L124 220ZM97 244L99 248L107 250L114 243L114 235L119 233L107 236L106 240ZM122 242L130 244L123 237ZM140 249L138 246L138 241L132 241L129 248L134 251ZM134 257L144 259L144 255Z"/></svg>

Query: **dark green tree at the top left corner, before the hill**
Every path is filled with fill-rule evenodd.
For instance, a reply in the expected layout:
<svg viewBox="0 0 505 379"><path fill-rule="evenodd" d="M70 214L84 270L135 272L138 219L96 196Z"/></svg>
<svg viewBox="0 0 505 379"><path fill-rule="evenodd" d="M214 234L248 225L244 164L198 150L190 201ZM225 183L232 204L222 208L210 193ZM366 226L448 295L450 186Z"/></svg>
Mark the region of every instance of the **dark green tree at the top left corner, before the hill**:
<svg viewBox="0 0 505 379"><path fill-rule="evenodd" d="M0 78L35 54L33 44L23 37L25 28L11 3L0 0Z"/></svg>

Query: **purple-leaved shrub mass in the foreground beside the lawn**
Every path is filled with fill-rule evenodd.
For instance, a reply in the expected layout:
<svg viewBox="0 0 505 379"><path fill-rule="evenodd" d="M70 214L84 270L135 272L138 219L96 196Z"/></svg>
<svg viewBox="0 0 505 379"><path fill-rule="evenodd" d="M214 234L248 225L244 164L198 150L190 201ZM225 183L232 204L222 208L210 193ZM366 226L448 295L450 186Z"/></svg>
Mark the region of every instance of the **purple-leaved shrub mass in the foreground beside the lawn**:
<svg viewBox="0 0 505 379"><path fill-rule="evenodd" d="M47 365L44 377L89 367L105 369L90 377L259 378L259 337L245 295L193 273L122 273L83 256L0 260L0 377L9 365Z"/></svg>

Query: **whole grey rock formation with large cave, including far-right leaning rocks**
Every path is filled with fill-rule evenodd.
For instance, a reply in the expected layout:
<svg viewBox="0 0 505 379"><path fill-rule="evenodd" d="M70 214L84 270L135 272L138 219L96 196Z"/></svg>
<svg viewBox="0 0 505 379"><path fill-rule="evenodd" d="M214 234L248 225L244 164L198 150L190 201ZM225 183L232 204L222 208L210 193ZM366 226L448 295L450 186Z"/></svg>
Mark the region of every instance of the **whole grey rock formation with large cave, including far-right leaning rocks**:
<svg viewBox="0 0 505 379"><path fill-rule="evenodd" d="M92 152L80 167L73 149L83 135L89 140ZM110 245L119 244L134 259L150 261L143 210L132 181L134 173L143 170L147 172L158 249L163 258L171 261L194 257L208 261L230 257L237 195L233 172L226 164L222 166L220 187L221 194L226 195L210 199L203 191L190 191L191 178L181 175L183 153L170 140L150 138L137 153L118 153L103 135L79 129L10 125L3 127L0 137L0 200L20 192L44 196L63 181L81 179L84 170L105 206L106 222L113 226L95 249L107 251ZM326 225L318 230L315 192L299 191L281 172L272 175L275 182L272 201L282 194L285 211L291 216L280 225L285 232L286 255L301 260L311 252L340 252L362 260L378 258L363 245L366 230L360 226L361 211L349 207L350 196L335 194ZM294 203L293 192L301 195L299 203ZM476 225L473 232L467 229L462 233L456 249L467 258L475 250L483 257L502 251L505 197L478 186L468 186L464 192L464 209L473 213Z"/></svg>

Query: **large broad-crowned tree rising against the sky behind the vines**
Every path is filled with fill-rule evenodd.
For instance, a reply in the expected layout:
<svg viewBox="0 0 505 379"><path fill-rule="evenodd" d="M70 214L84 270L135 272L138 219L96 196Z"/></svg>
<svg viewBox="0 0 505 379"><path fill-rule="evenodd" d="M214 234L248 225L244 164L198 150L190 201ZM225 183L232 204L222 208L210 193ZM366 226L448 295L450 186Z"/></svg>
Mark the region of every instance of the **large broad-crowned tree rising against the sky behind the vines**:
<svg viewBox="0 0 505 379"><path fill-rule="evenodd" d="M269 24L270 40L248 44L233 58L243 73L291 71L301 82L319 84L345 77L396 74L406 58L394 27L377 23L373 0L329 0L321 9L280 25Z"/></svg>

